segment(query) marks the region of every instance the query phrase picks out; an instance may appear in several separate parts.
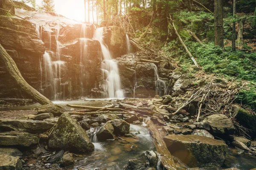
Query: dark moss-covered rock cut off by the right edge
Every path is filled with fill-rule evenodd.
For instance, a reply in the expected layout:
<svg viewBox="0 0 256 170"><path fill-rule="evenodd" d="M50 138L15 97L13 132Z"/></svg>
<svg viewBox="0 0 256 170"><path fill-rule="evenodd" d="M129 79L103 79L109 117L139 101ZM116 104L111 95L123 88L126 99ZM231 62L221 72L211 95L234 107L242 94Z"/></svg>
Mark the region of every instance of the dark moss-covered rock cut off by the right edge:
<svg viewBox="0 0 256 170"><path fill-rule="evenodd" d="M252 139L256 139L256 114L252 114L239 106L234 106L233 117L240 125L250 129L247 133Z"/></svg>

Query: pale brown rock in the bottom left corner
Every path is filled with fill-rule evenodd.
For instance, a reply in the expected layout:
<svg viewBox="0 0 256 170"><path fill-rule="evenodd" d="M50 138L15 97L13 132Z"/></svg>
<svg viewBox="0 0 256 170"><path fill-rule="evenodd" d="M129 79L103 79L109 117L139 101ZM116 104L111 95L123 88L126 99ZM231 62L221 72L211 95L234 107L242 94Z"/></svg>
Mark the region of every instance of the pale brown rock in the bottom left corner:
<svg viewBox="0 0 256 170"><path fill-rule="evenodd" d="M19 157L0 155L0 170L21 170L22 162Z"/></svg>

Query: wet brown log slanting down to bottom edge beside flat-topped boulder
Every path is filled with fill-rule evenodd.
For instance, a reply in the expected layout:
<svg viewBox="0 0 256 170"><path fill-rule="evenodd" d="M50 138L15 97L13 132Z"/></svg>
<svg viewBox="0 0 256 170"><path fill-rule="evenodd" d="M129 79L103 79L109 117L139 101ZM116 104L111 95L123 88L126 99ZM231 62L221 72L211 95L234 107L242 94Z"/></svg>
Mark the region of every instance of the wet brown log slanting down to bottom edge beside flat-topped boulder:
<svg viewBox="0 0 256 170"><path fill-rule="evenodd" d="M172 155L169 152L168 148L166 147L166 143L163 141L163 137L161 136L161 133L157 130L157 127L154 125L154 123L150 119L146 121L146 124L148 125L148 129L151 133L151 136L154 139L154 145L157 149L157 152L162 155L161 163L165 167L164 169L176 170Z"/></svg>

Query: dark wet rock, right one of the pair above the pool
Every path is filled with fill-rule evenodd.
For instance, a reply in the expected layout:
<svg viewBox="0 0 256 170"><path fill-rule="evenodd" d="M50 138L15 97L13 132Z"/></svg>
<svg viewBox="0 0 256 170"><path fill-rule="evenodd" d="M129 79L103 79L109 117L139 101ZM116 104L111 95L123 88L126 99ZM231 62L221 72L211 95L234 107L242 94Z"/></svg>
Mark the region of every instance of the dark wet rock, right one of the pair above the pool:
<svg viewBox="0 0 256 170"><path fill-rule="evenodd" d="M116 135L123 135L129 133L130 124L121 119L114 119L111 121L111 125L114 127L114 133Z"/></svg>

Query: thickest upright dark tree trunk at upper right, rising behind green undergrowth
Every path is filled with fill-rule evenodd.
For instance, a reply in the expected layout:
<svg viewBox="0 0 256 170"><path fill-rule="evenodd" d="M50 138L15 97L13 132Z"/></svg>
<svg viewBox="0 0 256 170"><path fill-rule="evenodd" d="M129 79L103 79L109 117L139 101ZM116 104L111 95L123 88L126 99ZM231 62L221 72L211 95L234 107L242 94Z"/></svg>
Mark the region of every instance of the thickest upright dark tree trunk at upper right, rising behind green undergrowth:
<svg viewBox="0 0 256 170"><path fill-rule="evenodd" d="M218 45L221 48L224 48L222 0L214 0L214 26L215 26L215 45Z"/></svg>

